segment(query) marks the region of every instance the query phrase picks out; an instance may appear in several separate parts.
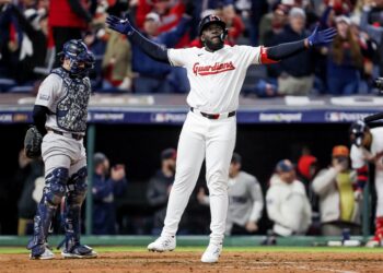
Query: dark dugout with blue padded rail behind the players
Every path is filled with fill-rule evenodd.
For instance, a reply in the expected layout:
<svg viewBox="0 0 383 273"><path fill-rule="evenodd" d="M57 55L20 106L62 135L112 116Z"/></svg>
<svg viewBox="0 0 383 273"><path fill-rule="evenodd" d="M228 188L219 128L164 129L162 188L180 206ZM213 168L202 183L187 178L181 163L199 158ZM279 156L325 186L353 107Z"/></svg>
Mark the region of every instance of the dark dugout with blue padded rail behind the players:
<svg viewBox="0 0 383 273"><path fill-rule="evenodd" d="M1 234L16 232L16 193L12 179L18 167L18 153L23 144L34 97L0 94L0 223ZM243 169L255 175L265 192L275 164L281 158L297 161L303 146L310 147L321 167L330 161L334 145L348 145L350 122L379 111L380 97L286 97L255 99L242 97L237 112L235 151L243 157ZM88 153L104 152L111 164L124 163L129 180L126 197L117 200L117 215L123 234L146 234L152 209L146 202L146 183L160 167L163 149L176 146L181 126L187 112L183 95L95 95L92 97ZM90 164L90 168L92 164ZM204 167L196 189L204 186ZM367 199L368 200L368 199ZM91 210L90 199L88 210ZM186 211L194 230L207 234L209 211L197 204L195 194ZM364 234L369 234L367 212ZM131 223L141 226L135 229ZM263 221L264 234L270 223ZM188 224L190 226L190 224ZM86 227L90 217L86 217ZM90 228L85 228L91 234Z"/></svg>

